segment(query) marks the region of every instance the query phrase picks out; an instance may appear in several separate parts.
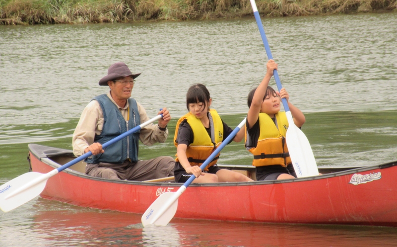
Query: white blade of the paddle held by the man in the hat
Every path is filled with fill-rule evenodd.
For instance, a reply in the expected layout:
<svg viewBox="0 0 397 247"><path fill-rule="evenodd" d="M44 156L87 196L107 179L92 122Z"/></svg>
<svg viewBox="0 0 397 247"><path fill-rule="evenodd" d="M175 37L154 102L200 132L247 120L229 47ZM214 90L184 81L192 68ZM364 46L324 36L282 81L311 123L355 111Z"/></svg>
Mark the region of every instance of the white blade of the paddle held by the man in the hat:
<svg viewBox="0 0 397 247"><path fill-rule="evenodd" d="M47 179L41 179L46 174L39 172L28 172L22 174L0 186L0 208L8 212L20 205L32 200L44 190ZM42 180L26 189L26 184L35 180ZM21 191L19 191L22 189ZM14 192L17 192L14 194Z"/></svg>

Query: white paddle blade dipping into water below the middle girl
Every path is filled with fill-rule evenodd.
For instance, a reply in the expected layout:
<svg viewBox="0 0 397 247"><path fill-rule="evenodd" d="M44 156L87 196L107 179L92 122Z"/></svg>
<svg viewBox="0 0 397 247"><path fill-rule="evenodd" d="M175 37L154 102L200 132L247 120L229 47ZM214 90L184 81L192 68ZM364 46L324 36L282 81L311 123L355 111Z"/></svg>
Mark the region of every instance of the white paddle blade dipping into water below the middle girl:
<svg viewBox="0 0 397 247"><path fill-rule="evenodd" d="M172 204L167 206L170 202L172 202ZM143 227L150 225L166 226L174 217L177 209L178 197L175 196L175 192L165 192L161 194L142 215L142 225Z"/></svg>

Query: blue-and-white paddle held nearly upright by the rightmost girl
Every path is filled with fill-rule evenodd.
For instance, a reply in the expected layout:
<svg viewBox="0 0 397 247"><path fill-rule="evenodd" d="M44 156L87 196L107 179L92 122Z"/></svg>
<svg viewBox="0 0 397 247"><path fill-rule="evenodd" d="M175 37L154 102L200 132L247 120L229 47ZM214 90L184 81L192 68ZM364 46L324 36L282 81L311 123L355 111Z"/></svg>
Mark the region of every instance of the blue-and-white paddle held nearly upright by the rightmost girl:
<svg viewBox="0 0 397 247"><path fill-rule="evenodd" d="M259 15L257 4L255 3L255 0L250 1L254 11L255 19L258 24L259 32L261 33L262 40L264 42L267 58L273 59L269 44L267 43L265 30L262 26L261 16ZM276 81L278 91L280 91L282 86L277 70L274 70L273 76ZM292 165L294 166L296 175L298 177L319 175L319 170L317 169L316 160L314 159L313 151L310 147L309 141L307 140L305 134L303 134L303 132L295 126L287 100L282 98L281 101L284 106L289 125L285 139L287 141L289 155L291 157Z"/></svg>

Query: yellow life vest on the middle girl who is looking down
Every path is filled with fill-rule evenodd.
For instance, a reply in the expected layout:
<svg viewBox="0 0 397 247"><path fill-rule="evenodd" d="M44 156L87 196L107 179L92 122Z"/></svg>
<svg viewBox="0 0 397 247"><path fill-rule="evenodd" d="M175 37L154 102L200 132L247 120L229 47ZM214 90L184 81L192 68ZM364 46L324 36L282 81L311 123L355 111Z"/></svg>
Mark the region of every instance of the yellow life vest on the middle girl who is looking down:
<svg viewBox="0 0 397 247"><path fill-rule="evenodd" d="M211 128L211 136L207 134L204 125L202 125L199 118L192 113L188 113L181 117L175 129L174 145L178 147L176 142L178 137L179 125L183 120L187 120L193 131L193 143L191 143L186 149L186 156L190 165L201 165L204 161L214 152L214 150L222 143L223 140L223 124L220 116L216 110L210 109L209 114L209 126ZM175 155L177 156L177 155ZM215 165L219 159L219 154L209 163L204 170L208 170L209 166ZM175 159L178 162L178 157Z"/></svg>

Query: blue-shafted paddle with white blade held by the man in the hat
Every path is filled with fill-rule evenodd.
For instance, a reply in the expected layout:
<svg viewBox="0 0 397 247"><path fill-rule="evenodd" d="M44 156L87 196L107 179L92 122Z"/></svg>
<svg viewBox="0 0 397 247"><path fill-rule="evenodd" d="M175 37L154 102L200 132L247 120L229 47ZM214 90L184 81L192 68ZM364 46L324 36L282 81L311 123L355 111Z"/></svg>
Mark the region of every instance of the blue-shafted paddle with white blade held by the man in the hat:
<svg viewBox="0 0 397 247"><path fill-rule="evenodd" d="M157 115L156 117L134 127L133 129L121 134L120 136L104 143L102 148L105 149L110 145L120 141L121 139L135 133L146 125L153 123L154 121L162 118L163 115ZM88 158L92 155L91 151L85 153L84 155L62 165L61 167L54 169L48 173L40 173L40 172L28 172L22 174L6 183L1 185L0 187L0 208L4 212L8 212L20 205L32 200L36 196L40 195L40 193L44 190L46 186L47 179L56 175L58 172L65 170L66 168L74 165L85 158Z"/></svg>

